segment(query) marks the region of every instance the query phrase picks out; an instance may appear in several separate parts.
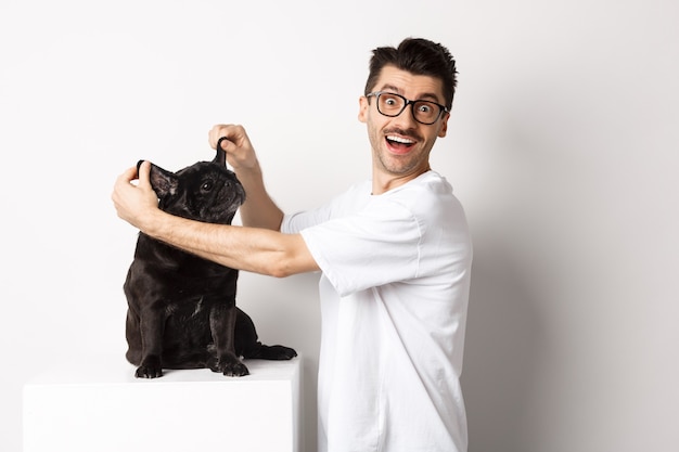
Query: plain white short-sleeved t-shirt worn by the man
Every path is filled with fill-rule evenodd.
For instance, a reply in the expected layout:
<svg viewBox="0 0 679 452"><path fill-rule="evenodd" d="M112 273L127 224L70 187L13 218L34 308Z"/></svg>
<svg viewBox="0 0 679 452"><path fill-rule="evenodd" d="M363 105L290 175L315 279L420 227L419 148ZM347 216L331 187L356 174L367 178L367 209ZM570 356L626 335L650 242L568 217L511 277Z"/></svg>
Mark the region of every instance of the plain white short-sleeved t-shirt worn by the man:
<svg viewBox="0 0 679 452"><path fill-rule="evenodd" d="M379 196L366 181L281 231L300 232L323 272L319 452L466 451L472 245L445 178Z"/></svg>

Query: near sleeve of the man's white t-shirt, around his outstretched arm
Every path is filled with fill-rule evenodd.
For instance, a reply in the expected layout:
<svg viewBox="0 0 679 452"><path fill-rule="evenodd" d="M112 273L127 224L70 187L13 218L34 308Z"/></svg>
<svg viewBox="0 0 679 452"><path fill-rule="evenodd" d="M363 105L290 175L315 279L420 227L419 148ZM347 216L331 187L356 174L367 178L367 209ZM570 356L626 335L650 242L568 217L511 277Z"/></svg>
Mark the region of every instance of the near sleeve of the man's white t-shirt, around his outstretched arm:
<svg viewBox="0 0 679 452"><path fill-rule="evenodd" d="M309 251L341 296L418 275L421 228L394 202L300 231Z"/></svg>

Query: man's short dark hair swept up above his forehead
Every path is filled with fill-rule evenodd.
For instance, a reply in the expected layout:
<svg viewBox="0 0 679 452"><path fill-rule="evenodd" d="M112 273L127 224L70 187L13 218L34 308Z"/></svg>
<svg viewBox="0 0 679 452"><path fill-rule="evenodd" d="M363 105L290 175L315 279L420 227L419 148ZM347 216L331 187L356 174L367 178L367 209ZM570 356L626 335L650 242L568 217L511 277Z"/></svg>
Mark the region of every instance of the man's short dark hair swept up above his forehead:
<svg viewBox="0 0 679 452"><path fill-rule="evenodd" d="M444 46L428 39L407 38L398 48L379 47L372 51L370 74L366 82L366 95L371 93L386 65L414 75L424 75L441 80L446 106L452 106L457 80L456 61Z"/></svg>

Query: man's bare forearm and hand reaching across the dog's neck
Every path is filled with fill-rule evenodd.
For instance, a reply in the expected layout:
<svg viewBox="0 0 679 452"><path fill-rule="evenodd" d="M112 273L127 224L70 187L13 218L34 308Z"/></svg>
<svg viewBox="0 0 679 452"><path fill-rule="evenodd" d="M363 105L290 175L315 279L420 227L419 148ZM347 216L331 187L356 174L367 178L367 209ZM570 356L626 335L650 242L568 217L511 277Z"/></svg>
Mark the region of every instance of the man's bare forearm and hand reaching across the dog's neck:
<svg viewBox="0 0 679 452"><path fill-rule="evenodd" d="M226 267L283 277L319 270L302 235L260 228L210 224L175 217L157 207L150 164L120 175L112 199L118 217L145 234Z"/></svg>

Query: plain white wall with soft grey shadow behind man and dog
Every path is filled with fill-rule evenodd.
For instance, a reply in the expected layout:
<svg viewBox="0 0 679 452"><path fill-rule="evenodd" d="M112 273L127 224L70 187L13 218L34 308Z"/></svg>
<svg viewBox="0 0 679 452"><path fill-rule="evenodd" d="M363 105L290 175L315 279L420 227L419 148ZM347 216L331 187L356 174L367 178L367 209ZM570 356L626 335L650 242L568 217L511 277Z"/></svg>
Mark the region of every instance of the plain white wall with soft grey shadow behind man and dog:
<svg viewBox="0 0 679 452"><path fill-rule="evenodd" d="M212 159L208 129L240 122L280 206L315 207L369 175L370 50L421 36L460 70L433 166L474 234L470 451L676 451L678 23L671 0L3 0L0 450L24 382L125 352L123 170ZM307 452L317 277L239 294L305 356Z"/></svg>

